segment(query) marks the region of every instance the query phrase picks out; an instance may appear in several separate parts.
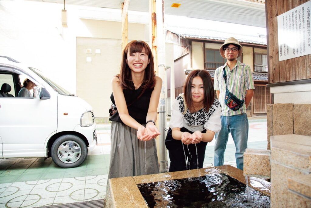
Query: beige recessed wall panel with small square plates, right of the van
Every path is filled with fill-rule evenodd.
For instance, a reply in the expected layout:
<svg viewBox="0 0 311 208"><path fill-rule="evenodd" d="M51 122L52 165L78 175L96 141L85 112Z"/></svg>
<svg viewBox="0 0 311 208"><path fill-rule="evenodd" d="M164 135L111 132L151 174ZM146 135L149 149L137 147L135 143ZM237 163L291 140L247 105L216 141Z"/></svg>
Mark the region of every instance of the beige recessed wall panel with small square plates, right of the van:
<svg viewBox="0 0 311 208"><path fill-rule="evenodd" d="M91 104L96 117L108 117L111 80L120 71L121 56L120 39L77 37L77 96Z"/></svg>

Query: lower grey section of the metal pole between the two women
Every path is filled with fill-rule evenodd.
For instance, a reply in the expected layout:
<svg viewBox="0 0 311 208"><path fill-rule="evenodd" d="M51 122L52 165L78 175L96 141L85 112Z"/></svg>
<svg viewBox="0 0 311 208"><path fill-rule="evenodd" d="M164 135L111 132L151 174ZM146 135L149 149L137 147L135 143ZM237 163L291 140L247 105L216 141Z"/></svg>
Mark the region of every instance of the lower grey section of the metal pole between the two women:
<svg viewBox="0 0 311 208"><path fill-rule="evenodd" d="M159 131L160 131L160 172L167 172L167 151L165 148L165 138L166 138L166 111L165 105L159 106Z"/></svg>

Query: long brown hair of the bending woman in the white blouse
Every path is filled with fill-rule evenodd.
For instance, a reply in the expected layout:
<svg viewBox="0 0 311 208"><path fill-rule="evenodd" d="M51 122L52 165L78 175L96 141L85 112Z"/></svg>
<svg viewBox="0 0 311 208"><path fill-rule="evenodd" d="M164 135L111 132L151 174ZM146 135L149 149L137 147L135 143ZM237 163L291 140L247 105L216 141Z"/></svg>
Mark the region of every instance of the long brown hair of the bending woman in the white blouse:
<svg viewBox="0 0 311 208"><path fill-rule="evenodd" d="M201 77L203 81L203 89L204 89L204 100L203 105L206 112L210 109L211 105L214 102L215 97L215 91L214 91L214 85L212 82L212 78L210 73L208 73L207 70L193 70L187 77L187 80L185 82L185 85L183 87L183 93L185 95L185 102L188 106L188 109L190 112L194 113L194 104L192 100L192 93L191 93L191 86L192 86L192 80L194 77Z"/></svg>

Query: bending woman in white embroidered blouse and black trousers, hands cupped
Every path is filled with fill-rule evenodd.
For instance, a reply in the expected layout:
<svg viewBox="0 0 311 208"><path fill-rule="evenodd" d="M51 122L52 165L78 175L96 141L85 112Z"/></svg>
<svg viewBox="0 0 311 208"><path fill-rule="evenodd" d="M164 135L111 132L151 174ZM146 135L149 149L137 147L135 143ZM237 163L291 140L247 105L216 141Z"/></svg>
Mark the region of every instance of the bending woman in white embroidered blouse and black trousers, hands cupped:
<svg viewBox="0 0 311 208"><path fill-rule="evenodd" d="M221 106L206 70L192 71L183 92L174 101L165 139L169 172L202 168L207 142L221 128Z"/></svg>

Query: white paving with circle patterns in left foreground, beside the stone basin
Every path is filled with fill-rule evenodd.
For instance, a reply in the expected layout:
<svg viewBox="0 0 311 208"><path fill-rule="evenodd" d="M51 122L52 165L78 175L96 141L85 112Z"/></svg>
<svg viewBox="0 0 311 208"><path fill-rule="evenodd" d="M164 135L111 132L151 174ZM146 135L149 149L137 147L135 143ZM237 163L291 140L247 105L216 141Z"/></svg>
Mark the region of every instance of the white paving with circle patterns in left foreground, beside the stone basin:
<svg viewBox="0 0 311 208"><path fill-rule="evenodd" d="M6 183L0 188L0 208L103 199L106 185L107 175Z"/></svg>

